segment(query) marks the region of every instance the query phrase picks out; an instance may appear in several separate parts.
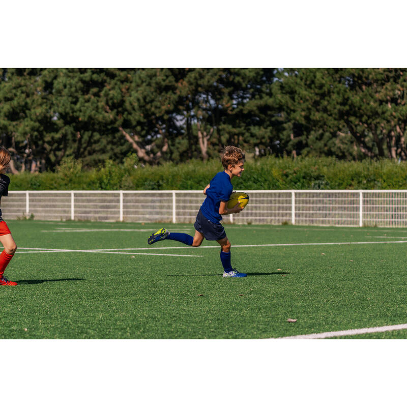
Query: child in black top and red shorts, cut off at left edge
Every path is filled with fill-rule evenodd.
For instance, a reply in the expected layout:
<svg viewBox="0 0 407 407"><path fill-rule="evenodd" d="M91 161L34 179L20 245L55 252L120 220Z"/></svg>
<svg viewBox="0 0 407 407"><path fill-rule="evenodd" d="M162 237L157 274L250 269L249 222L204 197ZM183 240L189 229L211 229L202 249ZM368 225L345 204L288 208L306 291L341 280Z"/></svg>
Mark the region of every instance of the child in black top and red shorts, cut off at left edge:
<svg viewBox="0 0 407 407"><path fill-rule="evenodd" d="M0 147L0 203L2 196L9 194L10 178L5 175L6 168L9 165L11 156L8 150ZM4 271L10 260L13 258L17 250L16 243L11 236L10 229L7 223L2 219L2 210L0 209L0 243L4 246L4 250L0 254L0 285L17 285L14 281L9 281L4 275Z"/></svg>

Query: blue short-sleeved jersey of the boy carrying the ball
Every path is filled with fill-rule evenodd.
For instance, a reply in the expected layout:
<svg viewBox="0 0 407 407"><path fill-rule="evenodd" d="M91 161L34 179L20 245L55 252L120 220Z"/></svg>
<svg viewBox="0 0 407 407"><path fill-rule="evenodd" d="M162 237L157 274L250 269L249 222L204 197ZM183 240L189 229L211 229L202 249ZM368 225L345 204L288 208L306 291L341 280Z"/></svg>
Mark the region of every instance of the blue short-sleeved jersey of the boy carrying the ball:
<svg viewBox="0 0 407 407"><path fill-rule="evenodd" d="M222 216L219 215L220 201L229 200L232 192L233 186L229 175L225 171L218 172L209 183L209 188L206 191L207 197L200 207L202 215L211 222L220 223L222 220Z"/></svg>

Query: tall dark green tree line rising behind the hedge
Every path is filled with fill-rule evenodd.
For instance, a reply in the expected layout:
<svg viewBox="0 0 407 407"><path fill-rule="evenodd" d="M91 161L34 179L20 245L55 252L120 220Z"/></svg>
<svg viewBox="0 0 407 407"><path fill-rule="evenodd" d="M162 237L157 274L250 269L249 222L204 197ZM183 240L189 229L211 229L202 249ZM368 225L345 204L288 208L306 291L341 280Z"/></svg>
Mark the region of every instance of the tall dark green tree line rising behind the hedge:
<svg viewBox="0 0 407 407"><path fill-rule="evenodd" d="M1 69L12 171L264 155L407 159L405 69Z"/></svg>

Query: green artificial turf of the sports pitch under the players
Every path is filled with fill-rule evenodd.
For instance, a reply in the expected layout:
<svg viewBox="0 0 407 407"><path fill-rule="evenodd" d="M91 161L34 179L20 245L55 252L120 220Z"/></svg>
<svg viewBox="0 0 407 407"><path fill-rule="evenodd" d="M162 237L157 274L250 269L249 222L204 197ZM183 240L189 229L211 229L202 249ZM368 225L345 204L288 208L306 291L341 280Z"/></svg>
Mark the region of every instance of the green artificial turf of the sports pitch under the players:
<svg viewBox="0 0 407 407"><path fill-rule="evenodd" d="M272 338L407 323L407 243L234 247L407 241L407 229L225 225L232 266L248 277L222 278L216 242L147 245L150 230L193 234L189 224L7 223L19 248L5 276L18 285L0 287L0 338Z"/></svg>

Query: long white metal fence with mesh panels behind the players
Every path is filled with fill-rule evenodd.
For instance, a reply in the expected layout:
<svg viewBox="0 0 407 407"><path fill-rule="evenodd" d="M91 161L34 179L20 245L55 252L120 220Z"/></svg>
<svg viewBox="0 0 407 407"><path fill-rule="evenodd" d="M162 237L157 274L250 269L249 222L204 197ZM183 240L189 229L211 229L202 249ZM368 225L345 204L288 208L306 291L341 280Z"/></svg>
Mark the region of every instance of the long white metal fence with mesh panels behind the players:
<svg viewBox="0 0 407 407"><path fill-rule="evenodd" d="M257 190L224 223L407 226L407 190ZM202 191L10 191L3 218L191 223Z"/></svg>

